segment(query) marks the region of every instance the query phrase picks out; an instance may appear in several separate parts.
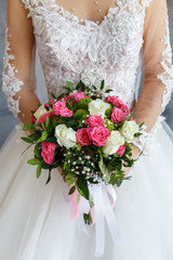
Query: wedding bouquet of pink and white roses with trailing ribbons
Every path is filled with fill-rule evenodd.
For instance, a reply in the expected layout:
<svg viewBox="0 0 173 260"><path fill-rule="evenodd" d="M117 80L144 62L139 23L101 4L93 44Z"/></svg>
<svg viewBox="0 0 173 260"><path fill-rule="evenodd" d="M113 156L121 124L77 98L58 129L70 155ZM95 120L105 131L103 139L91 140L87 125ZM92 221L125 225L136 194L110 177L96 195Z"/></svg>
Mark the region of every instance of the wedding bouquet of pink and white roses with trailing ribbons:
<svg viewBox="0 0 173 260"><path fill-rule="evenodd" d="M138 126L133 119L134 112L118 96L109 95L111 90L104 84L103 80L97 90L82 81L75 88L67 82L62 87L64 93L52 94L49 103L32 112L31 121L23 127L30 134L22 138L29 143L28 147L35 146L35 158L27 162L37 166L37 178L42 169L48 169L48 184L52 169L62 167L62 176L69 185L71 219L82 213L85 223L96 226L99 222L97 236L104 229L103 216L110 233L115 232L111 226L117 230L114 218L110 221L110 206L116 203L114 186L130 179L122 167L133 166L132 142L143 128L143 123Z"/></svg>

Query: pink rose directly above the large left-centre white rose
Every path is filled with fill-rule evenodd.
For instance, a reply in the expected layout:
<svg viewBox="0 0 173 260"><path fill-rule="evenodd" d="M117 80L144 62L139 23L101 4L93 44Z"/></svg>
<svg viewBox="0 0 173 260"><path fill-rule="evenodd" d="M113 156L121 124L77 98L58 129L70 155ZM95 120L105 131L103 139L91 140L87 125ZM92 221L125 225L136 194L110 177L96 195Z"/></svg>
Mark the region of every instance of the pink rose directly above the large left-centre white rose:
<svg viewBox="0 0 173 260"><path fill-rule="evenodd" d="M66 106L66 101L57 101L53 105L53 110L56 116L70 117L72 116L72 110L68 109Z"/></svg>

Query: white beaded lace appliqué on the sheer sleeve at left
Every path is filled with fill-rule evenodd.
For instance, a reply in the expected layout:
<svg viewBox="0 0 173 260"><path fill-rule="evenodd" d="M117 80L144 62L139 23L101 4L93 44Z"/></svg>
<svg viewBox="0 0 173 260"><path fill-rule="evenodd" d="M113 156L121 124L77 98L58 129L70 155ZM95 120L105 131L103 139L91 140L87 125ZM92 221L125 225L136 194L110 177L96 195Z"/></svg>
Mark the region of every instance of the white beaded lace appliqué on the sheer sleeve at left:
<svg viewBox="0 0 173 260"><path fill-rule="evenodd" d="M12 65L10 62L14 61L15 57L12 54L9 54L9 52L12 51L12 48L10 47L10 43L8 41L8 35L9 29L6 28L5 31L5 53L4 53L4 70L2 75L2 91L4 92L6 99L8 99L8 105L9 109L14 114L15 117L17 117L19 110L19 99L14 100L14 95L21 90L21 87L24 86L24 82L18 80L15 77L15 74L17 73L17 69L14 65Z"/></svg>

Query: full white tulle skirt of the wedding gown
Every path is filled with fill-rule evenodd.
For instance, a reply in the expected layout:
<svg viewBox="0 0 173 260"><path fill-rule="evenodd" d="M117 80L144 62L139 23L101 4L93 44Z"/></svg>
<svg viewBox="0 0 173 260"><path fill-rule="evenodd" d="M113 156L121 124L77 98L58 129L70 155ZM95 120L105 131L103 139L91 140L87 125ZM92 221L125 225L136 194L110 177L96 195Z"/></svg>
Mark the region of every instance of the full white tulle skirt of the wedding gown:
<svg viewBox="0 0 173 260"><path fill-rule="evenodd" d="M106 226L102 260L173 259L173 142L165 123L158 129L154 152L142 156L131 171L132 180L117 188L115 207L123 243L114 245ZM14 130L0 153L0 259L93 260L95 230L89 235L76 229L66 199L67 184L61 172L48 172L39 180L27 165L31 150Z"/></svg>

